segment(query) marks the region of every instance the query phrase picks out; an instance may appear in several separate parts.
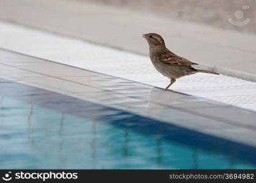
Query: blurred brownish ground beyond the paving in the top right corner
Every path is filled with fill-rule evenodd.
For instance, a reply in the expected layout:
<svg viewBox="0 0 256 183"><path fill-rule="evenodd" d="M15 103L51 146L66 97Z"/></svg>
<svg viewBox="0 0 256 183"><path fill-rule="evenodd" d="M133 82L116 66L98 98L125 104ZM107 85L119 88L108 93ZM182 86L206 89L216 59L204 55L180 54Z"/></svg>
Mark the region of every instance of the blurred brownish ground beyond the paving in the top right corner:
<svg viewBox="0 0 256 183"><path fill-rule="evenodd" d="M73 1L73 0L70 0ZM256 33L256 1L254 0L77 0L100 2L129 7L155 13L158 15L177 18L179 20L196 21L224 29L233 29L241 32ZM243 9L243 6L244 7ZM243 12L243 15L242 13ZM226 20L233 18L243 21L250 18L247 26L233 26Z"/></svg>

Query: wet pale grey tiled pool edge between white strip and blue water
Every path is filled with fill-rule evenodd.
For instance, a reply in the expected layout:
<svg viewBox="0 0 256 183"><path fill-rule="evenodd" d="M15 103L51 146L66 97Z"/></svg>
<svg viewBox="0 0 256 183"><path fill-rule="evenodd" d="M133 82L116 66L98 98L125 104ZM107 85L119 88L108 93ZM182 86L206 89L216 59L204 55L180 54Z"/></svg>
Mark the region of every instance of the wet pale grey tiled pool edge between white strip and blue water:
<svg viewBox="0 0 256 183"><path fill-rule="evenodd" d="M0 66L10 81L256 146L256 113L249 110L5 50Z"/></svg>

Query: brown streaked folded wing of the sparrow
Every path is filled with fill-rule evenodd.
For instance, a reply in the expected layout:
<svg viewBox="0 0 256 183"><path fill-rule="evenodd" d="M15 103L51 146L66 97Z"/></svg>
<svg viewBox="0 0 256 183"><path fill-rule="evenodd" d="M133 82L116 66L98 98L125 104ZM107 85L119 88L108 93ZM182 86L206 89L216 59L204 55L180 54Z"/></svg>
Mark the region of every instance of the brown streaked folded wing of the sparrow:
<svg viewBox="0 0 256 183"><path fill-rule="evenodd" d="M170 65L198 65L198 63L191 62L190 60L179 57L168 49L157 53L157 58L160 62Z"/></svg>

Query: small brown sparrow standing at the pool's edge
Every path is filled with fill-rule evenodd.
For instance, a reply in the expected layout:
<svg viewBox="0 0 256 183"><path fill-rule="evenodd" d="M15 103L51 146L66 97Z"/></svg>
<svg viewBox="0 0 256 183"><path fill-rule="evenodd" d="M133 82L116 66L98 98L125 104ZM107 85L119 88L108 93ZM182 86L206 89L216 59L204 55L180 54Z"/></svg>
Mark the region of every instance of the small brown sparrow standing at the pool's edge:
<svg viewBox="0 0 256 183"><path fill-rule="evenodd" d="M159 73L171 79L168 89L176 79L195 73L218 74L213 71L197 70L191 65L198 65L190 60L179 57L165 47L164 39L156 33L143 34L149 45L150 59Z"/></svg>

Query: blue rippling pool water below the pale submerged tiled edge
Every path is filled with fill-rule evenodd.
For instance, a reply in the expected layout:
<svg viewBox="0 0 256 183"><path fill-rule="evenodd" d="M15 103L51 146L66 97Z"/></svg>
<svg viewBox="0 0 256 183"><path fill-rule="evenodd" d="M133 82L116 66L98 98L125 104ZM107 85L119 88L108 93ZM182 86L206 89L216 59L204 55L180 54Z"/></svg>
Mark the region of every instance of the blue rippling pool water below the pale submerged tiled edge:
<svg viewBox="0 0 256 183"><path fill-rule="evenodd" d="M0 168L256 168L255 148L1 80Z"/></svg>

